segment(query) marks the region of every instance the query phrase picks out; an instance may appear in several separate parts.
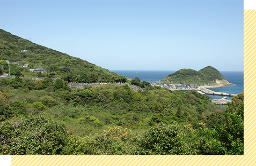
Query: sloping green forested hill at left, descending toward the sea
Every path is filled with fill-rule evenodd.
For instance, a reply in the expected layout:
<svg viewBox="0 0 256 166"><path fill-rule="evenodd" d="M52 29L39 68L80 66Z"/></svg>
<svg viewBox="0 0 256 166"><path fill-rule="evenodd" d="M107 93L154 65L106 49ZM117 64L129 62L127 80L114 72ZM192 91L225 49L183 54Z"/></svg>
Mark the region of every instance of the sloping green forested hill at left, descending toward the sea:
<svg viewBox="0 0 256 166"><path fill-rule="evenodd" d="M21 52L23 50L27 52ZM73 77L86 74L87 80L93 82L106 82L110 81L112 76L118 76L86 60L35 44L3 29L0 29L0 59L18 61L20 65L28 64L29 69L42 67L46 72L69 73Z"/></svg>

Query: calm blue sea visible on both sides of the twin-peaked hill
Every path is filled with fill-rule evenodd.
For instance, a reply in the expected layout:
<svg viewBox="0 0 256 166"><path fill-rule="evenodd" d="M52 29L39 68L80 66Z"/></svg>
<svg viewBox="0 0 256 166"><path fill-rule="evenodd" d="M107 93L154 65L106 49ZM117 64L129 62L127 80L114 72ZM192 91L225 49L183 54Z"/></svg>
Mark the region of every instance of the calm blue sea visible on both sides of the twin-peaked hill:
<svg viewBox="0 0 256 166"><path fill-rule="evenodd" d="M146 70L111 70L116 74L126 76L129 78L140 78L141 81L156 82L167 77L169 74L176 71L146 71ZM216 92L226 92L238 94L244 91L244 72L220 72L228 82L233 83L235 86L223 86L222 88L211 89ZM208 95L213 99L219 99L220 96ZM231 100L231 97L228 97Z"/></svg>

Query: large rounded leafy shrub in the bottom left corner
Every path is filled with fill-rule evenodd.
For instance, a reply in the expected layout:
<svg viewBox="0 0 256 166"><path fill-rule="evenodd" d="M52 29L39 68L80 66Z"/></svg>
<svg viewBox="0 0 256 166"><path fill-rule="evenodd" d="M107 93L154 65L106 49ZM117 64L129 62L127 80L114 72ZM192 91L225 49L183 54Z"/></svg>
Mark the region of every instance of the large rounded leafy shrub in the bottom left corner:
<svg viewBox="0 0 256 166"><path fill-rule="evenodd" d="M67 131L47 115L16 117L0 123L0 155L60 154Z"/></svg>

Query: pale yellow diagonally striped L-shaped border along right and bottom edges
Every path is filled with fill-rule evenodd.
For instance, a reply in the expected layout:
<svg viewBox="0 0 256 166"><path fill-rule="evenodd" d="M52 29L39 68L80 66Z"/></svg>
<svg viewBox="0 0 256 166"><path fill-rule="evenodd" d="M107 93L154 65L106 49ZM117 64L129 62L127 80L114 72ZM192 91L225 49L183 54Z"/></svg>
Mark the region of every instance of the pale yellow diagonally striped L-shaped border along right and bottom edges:
<svg viewBox="0 0 256 166"><path fill-rule="evenodd" d="M256 165L256 10L244 10L244 155L15 155L12 165Z"/></svg>

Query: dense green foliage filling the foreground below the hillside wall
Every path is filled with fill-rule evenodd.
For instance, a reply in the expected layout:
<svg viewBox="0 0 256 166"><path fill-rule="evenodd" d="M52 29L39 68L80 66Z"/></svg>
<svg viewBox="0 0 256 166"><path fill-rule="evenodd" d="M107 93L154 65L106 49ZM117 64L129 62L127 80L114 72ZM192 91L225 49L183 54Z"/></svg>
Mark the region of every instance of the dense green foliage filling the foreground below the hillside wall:
<svg viewBox="0 0 256 166"><path fill-rule="evenodd" d="M1 154L243 154L243 101L145 88L1 79Z"/></svg>

